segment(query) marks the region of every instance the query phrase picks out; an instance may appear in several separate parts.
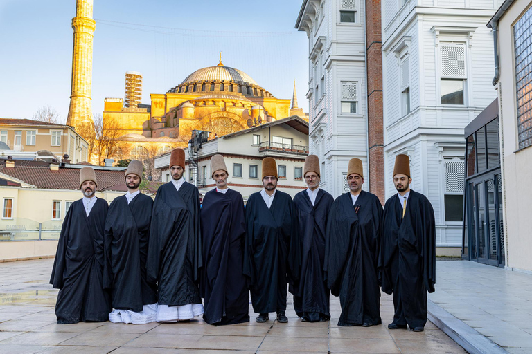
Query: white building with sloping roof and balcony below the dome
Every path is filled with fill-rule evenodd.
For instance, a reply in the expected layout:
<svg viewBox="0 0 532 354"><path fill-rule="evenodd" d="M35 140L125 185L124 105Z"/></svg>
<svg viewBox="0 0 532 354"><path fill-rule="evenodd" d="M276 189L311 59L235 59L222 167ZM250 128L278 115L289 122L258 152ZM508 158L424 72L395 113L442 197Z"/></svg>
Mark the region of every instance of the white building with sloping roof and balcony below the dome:
<svg viewBox="0 0 532 354"><path fill-rule="evenodd" d="M305 189L303 165L308 155L308 123L297 116L267 122L208 140L196 151L192 145L185 151L184 178L197 185L201 194L215 187L211 178L211 157L220 153L229 169L227 184L240 192L244 201L263 188L262 160L266 157L275 158L277 162L277 187L293 198ZM162 170L163 182L172 178L169 163L170 153L155 160L155 167Z"/></svg>

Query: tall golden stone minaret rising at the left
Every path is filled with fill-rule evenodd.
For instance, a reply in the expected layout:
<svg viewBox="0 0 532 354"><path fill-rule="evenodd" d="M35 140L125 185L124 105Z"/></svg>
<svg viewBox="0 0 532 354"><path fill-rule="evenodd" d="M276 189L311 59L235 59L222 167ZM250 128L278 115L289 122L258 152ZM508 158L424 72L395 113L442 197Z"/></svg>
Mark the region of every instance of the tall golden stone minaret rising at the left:
<svg viewBox="0 0 532 354"><path fill-rule="evenodd" d="M74 46L72 53L72 82L67 125L79 127L92 123L92 41L96 21L92 19L93 0L76 1L76 17L72 19Z"/></svg>

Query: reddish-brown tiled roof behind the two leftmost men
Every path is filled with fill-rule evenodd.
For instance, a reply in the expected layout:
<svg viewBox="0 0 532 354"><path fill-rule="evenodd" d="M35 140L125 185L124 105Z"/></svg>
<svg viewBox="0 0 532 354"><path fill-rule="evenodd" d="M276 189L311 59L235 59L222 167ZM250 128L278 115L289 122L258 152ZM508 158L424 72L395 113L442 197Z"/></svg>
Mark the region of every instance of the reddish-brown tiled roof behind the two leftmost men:
<svg viewBox="0 0 532 354"><path fill-rule="evenodd" d="M48 162L15 160L15 168L6 167L6 160L0 162L0 174L4 174L20 180L28 185L42 189L80 189L80 167L61 167L58 171L52 171ZM72 168L73 167L73 168ZM95 168L98 180L98 191L114 190L122 191L120 185L124 183L124 171Z"/></svg>

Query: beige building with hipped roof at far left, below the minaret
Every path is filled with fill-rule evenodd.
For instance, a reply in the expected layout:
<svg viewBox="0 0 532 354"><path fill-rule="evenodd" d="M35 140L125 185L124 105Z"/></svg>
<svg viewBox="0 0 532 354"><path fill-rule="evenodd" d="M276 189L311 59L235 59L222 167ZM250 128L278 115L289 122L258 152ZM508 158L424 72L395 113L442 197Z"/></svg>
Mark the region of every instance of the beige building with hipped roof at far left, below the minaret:
<svg viewBox="0 0 532 354"><path fill-rule="evenodd" d="M60 160L65 154L74 163L87 161L88 144L73 127L29 119L0 118L0 158L18 156L33 160L44 155ZM50 155L51 153L51 155Z"/></svg>

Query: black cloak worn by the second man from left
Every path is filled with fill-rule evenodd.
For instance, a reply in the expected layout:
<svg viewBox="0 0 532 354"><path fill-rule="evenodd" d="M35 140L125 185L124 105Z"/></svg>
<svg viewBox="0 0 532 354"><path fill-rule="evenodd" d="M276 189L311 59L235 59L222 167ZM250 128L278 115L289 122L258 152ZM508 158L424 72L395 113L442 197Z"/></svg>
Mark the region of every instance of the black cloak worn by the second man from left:
<svg viewBox="0 0 532 354"><path fill-rule="evenodd" d="M114 199L105 221L107 263L104 286L112 290L113 308L141 312L157 302L157 287L146 281L146 257L153 199L139 193L127 204Z"/></svg>

